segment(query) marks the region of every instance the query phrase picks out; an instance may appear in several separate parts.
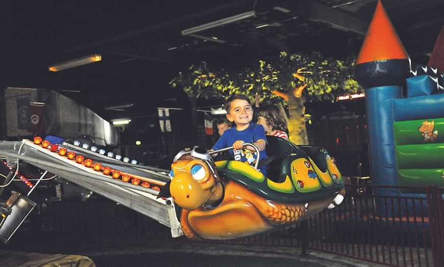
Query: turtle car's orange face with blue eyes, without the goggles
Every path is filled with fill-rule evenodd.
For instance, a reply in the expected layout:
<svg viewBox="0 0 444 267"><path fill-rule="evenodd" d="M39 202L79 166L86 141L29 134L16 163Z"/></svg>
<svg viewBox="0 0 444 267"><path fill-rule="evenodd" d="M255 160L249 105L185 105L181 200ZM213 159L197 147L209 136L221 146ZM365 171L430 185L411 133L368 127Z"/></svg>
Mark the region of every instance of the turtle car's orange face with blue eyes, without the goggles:
<svg viewBox="0 0 444 267"><path fill-rule="evenodd" d="M171 164L169 191L184 209L193 210L205 204L214 193L216 183L218 179L201 159L184 159Z"/></svg>

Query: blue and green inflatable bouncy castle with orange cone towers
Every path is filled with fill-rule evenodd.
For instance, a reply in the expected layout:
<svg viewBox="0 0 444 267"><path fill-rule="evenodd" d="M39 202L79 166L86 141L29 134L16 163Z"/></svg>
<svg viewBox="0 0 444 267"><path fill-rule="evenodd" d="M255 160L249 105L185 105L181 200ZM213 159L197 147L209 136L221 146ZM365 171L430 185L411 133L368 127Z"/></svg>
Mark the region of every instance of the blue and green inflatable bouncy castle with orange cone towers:
<svg viewBox="0 0 444 267"><path fill-rule="evenodd" d="M428 66L411 67L378 2L356 62L365 89L371 178L377 195L424 194L444 186L444 26ZM404 186L398 189L396 186Z"/></svg>

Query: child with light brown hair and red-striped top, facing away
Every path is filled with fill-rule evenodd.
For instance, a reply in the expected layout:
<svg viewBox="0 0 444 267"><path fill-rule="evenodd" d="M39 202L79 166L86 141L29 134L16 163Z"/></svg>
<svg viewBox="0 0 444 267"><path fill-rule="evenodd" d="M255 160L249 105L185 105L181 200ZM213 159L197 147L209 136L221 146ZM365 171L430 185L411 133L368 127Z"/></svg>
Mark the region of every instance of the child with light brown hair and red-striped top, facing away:
<svg viewBox="0 0 444 267"><path fill-rule="evenodd" d="M264 126L267 136L277 136L288 140L288 118L281 105L263 105L257 113L258 124Z"/></svg>

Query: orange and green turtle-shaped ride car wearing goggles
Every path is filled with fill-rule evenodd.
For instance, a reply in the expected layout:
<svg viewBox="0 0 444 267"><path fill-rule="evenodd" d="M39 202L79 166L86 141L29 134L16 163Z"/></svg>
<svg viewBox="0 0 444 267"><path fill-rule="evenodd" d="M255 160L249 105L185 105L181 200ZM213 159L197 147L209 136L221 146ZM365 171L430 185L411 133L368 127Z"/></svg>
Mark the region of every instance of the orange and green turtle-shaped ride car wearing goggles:
<svg viewBox="0 0 444 267"><path fill-rule="evenodd" d="M268 177L258 165L213 162L210 154L222 150L194 147L179 152L171 165L169 192L182 208L185 236L231 239L258 234L342 202L344 181L326 150L277 137L267 140L269 158L262 163L268 164Z"/></svg>

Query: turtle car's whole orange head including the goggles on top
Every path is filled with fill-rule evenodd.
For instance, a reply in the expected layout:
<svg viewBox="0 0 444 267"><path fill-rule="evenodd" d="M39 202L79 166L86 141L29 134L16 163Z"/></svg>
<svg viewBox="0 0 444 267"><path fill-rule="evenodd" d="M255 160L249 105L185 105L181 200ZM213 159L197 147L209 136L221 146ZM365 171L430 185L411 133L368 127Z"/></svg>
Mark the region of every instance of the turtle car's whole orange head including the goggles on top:
<svg viewBox="0 0 444 267"><path fill-rule="evenodd" d="M214 162L205 148L179 152L171 164L170 176L171 197L184 209L193 210L213 203L223 195Z"/></svg>

